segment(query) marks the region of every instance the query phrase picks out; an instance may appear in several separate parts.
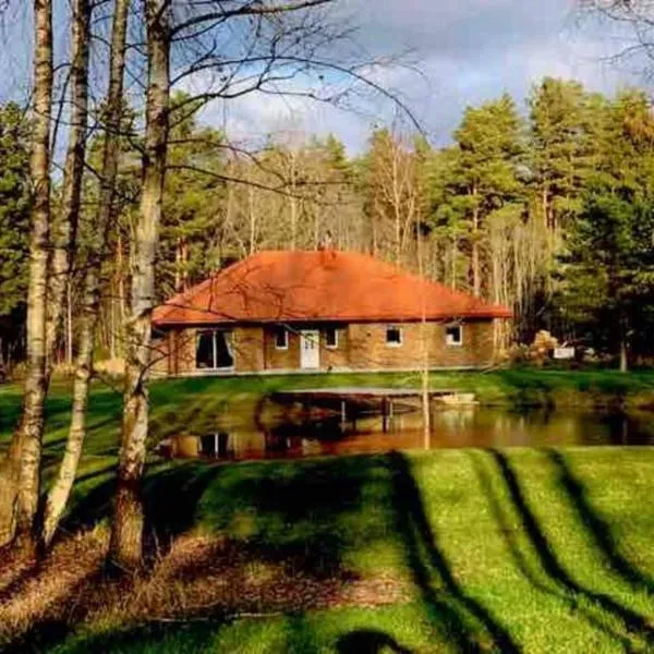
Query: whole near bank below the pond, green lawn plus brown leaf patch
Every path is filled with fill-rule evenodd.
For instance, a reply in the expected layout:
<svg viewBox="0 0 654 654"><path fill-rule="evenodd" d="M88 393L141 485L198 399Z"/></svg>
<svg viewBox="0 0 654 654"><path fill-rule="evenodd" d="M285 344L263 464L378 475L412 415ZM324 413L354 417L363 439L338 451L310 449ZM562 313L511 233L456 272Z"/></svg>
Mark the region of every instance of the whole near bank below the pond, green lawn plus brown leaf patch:
<svg viewBox="0 0 654 654"><path fill-rule="evenodd" d="M104 485L81 521L104 514ZM34 615L12 646L650 652L653 493L649 449L182 463L148 480L149 576L117 590L92 567L43 609L47 571L14 581Z"/></svg>

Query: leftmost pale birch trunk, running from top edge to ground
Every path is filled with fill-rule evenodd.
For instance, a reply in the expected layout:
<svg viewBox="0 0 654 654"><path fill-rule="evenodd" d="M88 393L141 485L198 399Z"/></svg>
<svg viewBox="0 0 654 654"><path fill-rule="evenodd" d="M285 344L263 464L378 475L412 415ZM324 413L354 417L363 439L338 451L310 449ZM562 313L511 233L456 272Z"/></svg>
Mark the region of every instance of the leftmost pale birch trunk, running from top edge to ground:
<svg viewBox="0 0 654 654"><path fill-rule="evenodd" d="M0 545L15 535L34 544L40 492L46 400L46 302L50 229L50 117L52 110L52 7L34 2L34 129L29 175L33 208L27 291L27 374L20 425L0 475Z"/></svg>

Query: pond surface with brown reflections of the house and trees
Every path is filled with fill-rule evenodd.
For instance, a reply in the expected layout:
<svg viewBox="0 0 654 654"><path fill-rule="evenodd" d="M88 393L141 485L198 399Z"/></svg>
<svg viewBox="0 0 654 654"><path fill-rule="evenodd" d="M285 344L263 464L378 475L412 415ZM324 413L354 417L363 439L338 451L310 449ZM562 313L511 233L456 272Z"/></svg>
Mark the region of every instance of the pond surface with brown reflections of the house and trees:
<svg viewBox="0 0 654 654"><path fill-rule="evenodd" d="M181 435L161 444L169 457L220 460L302 458L343 453L376 453L423 449L420 412L397 415L384 432L380 417L342 425L337 417L311 421L261 420L220 424L216 432ZM646 414L602 414L565 411L511 412L500 409L441 409L432 414L429 447L549 447L589 445L654 445ZM344 427L344 428L343 428Z"/></svg>

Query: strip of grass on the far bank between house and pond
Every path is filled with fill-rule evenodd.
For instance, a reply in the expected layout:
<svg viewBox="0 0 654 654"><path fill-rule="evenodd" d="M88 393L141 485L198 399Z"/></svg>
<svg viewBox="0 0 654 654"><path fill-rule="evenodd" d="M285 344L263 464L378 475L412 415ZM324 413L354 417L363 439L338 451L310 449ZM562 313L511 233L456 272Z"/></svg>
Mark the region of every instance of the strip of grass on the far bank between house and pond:
<svg viewBox="0 0 654 654"><path fill-rule="evenodd" d="M651 408L654 372L559 372L512 370L433 374L433 388L474 392L482 404L507 408ZM150 441L182 432L214 431L217 417L252 422L262 398L281 388L334 386L419 387L411 374L348 374L187 378L155 382L150 388ZM96 383L89 403L89 434L81 465L82 484L110 475L116 461L122 398L120 388ZM21 408L21 387L0 386L0 450L11 437ZM45 470L49 475L65 446L70 384L52 385L47 403Z"/></svg>

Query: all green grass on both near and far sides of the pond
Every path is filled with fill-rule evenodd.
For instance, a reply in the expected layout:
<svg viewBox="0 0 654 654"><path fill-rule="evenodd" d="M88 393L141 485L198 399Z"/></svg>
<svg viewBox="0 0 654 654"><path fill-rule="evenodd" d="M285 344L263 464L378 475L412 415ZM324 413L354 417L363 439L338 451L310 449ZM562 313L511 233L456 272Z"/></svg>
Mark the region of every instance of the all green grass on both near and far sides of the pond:
<svg viewBox="0 0 654 654"><path fill-rule="evenodd" d="M267 391L317 384L404 385L402 375L178 379L152 388L153 434L201 428ZM654 375L508 371L435 375L483 402L652 403ZM574 398L572 401L570 398ZM46 473L64 446L68 387L48 401ZM20 389L0 387L0 441ZM241 409L239 409L241 408ZM94 388L90 431L68 526L109 513L120 395ZM34 646L58 652L654 651L654 450L450 450L233 465L157 463L145 487L160 542L190 530L247 548L252 565L405 580L393 606L262 619L84 623ZM180 583L183 583L180 581ZM76 602L76 601L75 601ZM24 643L23 643L24 644ZM386 647L386 649L384 649Z"/></svg>

